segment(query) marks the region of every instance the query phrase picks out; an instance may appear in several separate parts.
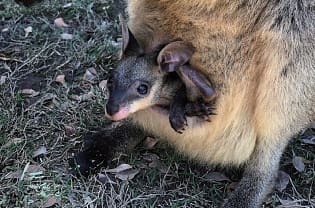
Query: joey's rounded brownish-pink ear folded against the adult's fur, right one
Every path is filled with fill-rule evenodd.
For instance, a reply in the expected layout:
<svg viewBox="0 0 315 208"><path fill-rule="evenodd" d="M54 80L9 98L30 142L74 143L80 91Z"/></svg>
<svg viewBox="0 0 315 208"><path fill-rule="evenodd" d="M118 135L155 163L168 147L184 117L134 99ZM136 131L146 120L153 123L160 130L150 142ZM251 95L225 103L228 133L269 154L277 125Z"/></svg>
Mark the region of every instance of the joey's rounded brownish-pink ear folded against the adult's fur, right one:
<svg viewBox="0 0 315 208"><path fill-rule="evenodd" d="M194 53L194 47L184 41L175 41L166 45L157 57L157 63L164 72L173 72L179 66L188 63Z"/></svg>

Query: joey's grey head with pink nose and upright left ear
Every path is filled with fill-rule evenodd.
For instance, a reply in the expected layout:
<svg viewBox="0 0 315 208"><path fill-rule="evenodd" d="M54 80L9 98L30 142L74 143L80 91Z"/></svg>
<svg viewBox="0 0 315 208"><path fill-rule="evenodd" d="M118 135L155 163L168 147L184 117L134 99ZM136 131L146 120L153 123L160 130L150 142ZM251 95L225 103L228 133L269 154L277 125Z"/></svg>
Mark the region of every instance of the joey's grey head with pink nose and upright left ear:
<svg viewBox="0 0 315 208"><path fill-rule="evenodd" d="M158 102L164 75L155 58L144 54L138 41L122 21L121 60L108 80L106 116L121 120Z"/></svg>

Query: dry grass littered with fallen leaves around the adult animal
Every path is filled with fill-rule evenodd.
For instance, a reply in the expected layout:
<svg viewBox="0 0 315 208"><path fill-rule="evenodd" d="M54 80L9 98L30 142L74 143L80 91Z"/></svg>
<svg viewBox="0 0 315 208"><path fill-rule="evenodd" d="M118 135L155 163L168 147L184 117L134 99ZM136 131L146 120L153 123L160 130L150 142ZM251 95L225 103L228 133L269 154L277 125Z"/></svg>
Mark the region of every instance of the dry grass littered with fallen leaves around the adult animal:
<svg viewBox="0 0 315 208"><path fill-rule="evenodd" d="M140 171L132 180L70 174L68 159L82 148L84 135L108 124L106 95L98 84L116 62L117 14L123 8L118 2L74 0L65 7L68 1L51 0L32 8L0 2L0 77L5 77L0 85L0 207L217 207L239 180L238 171L198 165L166 144L152 150L140 146L110 164L131 164ZM54 26L58 17L69 27ZM63 33L73 38L62 39ZM91 68L96 75L87 82L83 77ZM64 84L55 81L59 75L65 75ZM39 94L30 97L23 89ZM309 129L289 145L281 163L289 185L274 191L265 207L285 207L288 201L314 207L315 151L302 142L314 134ZM47 151L34 157L40 147ZM158 156L157 166L148 154ZM304 158L303 172L292 165L295 155ZM213 171L224 172L230 181L209 180ZM100 173L106 176L104 169Z"/></svg>

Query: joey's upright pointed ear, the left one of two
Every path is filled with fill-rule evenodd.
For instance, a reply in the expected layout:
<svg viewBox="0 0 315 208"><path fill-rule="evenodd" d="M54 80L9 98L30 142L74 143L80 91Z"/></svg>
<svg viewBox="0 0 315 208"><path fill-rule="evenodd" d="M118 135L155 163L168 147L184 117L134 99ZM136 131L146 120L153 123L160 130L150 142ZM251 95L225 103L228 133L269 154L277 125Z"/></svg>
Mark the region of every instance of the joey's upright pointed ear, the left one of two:
<svg viewBox="0 0 315 208"><path fill-rule="evenodd" d="M119 14L119 21L122 30L122 47L120 57L123 58L124 56L135 56L142 54L144 50L141 48L134 35L131 33L126 20L121 14Z"/></svg>

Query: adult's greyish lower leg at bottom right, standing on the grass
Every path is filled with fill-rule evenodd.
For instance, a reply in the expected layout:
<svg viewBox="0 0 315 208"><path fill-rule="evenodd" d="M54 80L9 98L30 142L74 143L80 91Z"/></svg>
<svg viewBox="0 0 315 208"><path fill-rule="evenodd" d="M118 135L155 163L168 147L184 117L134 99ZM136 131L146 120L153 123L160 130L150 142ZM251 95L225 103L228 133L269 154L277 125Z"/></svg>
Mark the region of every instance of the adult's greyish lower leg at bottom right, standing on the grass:
<svg viewBox="0 0 315 208"><path fill-rule="evenodd" d="M287 145L283 140L258 140L238 187L223 208L258 208L274 186L281 155Z"/></svg>

